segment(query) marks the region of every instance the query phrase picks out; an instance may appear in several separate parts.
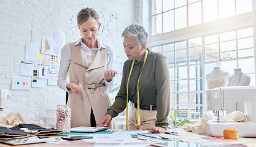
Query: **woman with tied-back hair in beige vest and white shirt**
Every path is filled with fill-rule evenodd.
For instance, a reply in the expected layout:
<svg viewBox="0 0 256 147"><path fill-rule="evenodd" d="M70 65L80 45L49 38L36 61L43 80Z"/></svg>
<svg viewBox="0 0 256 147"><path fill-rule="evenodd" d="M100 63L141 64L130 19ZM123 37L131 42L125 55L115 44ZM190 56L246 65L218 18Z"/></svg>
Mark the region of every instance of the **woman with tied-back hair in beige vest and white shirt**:
<svg viewBox="0 0 256 147"><path fill-rule="evenodd" d="M64 45L58 86L69 92L71 127L96 126L110 107L107 91L113 87L113 52L97 39L99 15L92 8L80 10L77 27L81 37ZM69 81L67 81L69 75Z"/></svg>

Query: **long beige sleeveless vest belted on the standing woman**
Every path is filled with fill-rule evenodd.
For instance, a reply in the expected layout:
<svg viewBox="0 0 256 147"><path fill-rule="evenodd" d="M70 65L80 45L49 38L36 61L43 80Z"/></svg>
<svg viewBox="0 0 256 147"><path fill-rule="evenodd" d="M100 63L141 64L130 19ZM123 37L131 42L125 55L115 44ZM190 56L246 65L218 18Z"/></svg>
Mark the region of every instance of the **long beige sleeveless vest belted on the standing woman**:
<svg viewBox="0 0 256 147"><path fill-rule="evenodd" d="M104 72L107 64L107 48L100 48L93 61L90 63L84 55L80 43L69 43L71 64L69 66L69 80L77 85L104 83ZM90 89L83 89L79 94L69 93L68 105L71 107L71 127L90 127L91 108L95 115L96 124L105 115L111 102L106 86L95 89L91 94Z"/></svg>

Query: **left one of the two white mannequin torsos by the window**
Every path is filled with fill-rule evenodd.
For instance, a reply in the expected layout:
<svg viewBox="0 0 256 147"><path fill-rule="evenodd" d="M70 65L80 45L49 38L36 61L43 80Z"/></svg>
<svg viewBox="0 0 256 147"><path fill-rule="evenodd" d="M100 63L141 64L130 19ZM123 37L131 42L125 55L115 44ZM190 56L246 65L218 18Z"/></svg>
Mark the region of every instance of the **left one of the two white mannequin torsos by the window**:
<svg viewBox="0 0 256 147"><path fill-rule="evenodd" d="M208 89L227 86L229 73L215 66L212 72L206 75Z"/></svg>

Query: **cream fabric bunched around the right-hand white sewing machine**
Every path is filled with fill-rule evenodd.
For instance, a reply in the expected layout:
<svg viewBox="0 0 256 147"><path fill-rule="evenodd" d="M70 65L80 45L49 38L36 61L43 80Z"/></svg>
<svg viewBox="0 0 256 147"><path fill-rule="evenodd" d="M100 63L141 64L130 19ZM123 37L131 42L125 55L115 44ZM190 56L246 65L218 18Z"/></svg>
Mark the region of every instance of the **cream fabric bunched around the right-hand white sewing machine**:
<svg viewBox="0 0 256 147"><path fill-rule="evenodd" d="M247 116L245 113L242 113L241 111L233 111L232 113L228 114L226 118L221 117L220 121L226 121L226 122L234 122L234 121L246 121ZM185 124L183 126L184 130L192 131L196 134L206 134L206 123L217 121L217 117L214 116L212 113L206 113L203 115L201 120L194 124Z"/></svg>

